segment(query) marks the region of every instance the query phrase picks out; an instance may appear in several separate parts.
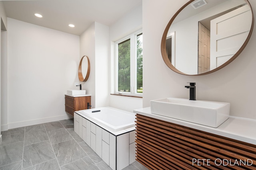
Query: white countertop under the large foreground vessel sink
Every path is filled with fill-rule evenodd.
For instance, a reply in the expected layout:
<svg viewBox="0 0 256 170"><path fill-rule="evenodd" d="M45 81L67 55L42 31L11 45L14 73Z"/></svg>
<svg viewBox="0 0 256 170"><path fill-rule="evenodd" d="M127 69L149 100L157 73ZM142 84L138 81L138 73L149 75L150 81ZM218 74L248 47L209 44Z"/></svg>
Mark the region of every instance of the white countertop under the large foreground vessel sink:
<svg viewBox="0 0 256 170"><path fill-rule="evenodd" d="M133 112L138 113L140 115L152 117L155 119L160 119L170 123L183 125L186 127L200 130L200 131L205 131L208 133L213 133L215 135L220 135L223 137L228 137L231 139L236 139L238 141L243 141L246 143L256 145L256 120L255 119L247 119L242 117L230 116L219 127L214 128L214 127L208 127L205 125L199 125L196 123L191 123L188 121L182 121L179 119L173 119L170 117L156 115L151 113L150 107L136 109Z"/></svg>

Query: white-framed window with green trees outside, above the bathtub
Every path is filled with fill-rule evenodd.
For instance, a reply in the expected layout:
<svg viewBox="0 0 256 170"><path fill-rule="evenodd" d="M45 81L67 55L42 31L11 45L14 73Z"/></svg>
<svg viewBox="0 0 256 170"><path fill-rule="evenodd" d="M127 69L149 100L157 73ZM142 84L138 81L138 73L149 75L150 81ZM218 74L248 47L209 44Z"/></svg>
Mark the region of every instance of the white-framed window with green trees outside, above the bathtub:
<svg viewBox="0 0 256 170"><path fill-rule="evenodd" d="M116 93L142 96L142 33L117 41L115 47Z"/></svg>

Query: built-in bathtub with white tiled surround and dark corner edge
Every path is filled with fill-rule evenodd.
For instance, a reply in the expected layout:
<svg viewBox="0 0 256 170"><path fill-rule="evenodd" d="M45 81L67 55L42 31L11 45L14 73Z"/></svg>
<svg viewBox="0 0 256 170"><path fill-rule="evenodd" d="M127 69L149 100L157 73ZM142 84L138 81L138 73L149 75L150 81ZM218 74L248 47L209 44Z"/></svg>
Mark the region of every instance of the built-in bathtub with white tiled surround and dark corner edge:
<svg viewBox="0 0 256 170"><path fill-rule="evenodd" d="M135 161L135 113L112 107L75 111L74 131L112 170Z"/></svg>

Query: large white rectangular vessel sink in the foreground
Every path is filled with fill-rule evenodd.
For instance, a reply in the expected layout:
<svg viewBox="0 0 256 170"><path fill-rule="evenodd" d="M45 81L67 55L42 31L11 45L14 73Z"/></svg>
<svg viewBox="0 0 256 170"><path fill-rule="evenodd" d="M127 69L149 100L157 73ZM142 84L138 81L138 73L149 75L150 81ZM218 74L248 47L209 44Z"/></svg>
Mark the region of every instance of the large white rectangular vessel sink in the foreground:
<svg viewBox="0 0 256 170"><path fill-rule="evenodd" d="M218 127L229 117L230 103L164 98L150 101L151 113Z"/></svg>

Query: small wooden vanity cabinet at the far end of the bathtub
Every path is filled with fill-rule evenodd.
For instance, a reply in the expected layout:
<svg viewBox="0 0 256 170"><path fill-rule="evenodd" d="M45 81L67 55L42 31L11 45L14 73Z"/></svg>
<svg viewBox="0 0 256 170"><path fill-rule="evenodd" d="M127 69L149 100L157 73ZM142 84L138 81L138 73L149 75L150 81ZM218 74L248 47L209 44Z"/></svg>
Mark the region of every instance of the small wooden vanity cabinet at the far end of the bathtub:
<svg viewBox="0 0 256 170"><path fill-rule="evenodd" d="M87 109L87 103L91 104L91 96L73 97L65 95L65 111L74 116L74 111Z"/></svg>

